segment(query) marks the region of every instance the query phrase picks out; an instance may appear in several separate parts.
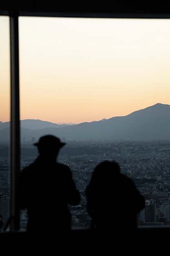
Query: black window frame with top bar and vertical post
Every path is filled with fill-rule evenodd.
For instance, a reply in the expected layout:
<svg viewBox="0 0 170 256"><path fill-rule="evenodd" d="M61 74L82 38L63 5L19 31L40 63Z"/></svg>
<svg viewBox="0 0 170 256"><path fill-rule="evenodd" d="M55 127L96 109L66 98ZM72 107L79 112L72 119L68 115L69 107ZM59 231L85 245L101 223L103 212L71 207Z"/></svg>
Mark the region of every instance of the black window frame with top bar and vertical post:
<svg viewBox="0 0 170 256"><path fill-rule="evenodd" d="M155 9L148 6L147 10L123 9L116 6L114 12L110 12L109 7L105 10L97 11L54 11L53 6L36 4L34 8L24 9L22 4L13 5L6 2L6 6L0 7L0 15L10 18L10 76L11 76L11 126L10 126L10 231L19 230L20 216L17 209L17 183L20 173L20 105L19 105L19 45L18 45L18 18L19 16L30 17L63 17L63 18L170 18L170 13L166 13L166 7L159 4ZM152 7L152 8L151 8ZM123 11L123 12L122 12Z"/></svg>

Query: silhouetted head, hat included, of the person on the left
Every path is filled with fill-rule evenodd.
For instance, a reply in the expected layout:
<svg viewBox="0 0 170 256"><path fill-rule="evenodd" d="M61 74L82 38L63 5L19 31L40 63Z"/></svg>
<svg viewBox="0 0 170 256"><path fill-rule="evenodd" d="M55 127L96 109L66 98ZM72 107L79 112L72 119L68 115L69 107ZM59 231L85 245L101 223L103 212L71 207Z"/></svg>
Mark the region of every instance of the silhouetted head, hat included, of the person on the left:
<svg viewBox="0 0 170 256"><path fill-rule="evenodd" d="M62 148L65 144L66 143L61 142L60 139L54 135L45 135L40 137L39 141L35 143L34 146L38 147L40 154L57 155L60 148Z"/></svg>

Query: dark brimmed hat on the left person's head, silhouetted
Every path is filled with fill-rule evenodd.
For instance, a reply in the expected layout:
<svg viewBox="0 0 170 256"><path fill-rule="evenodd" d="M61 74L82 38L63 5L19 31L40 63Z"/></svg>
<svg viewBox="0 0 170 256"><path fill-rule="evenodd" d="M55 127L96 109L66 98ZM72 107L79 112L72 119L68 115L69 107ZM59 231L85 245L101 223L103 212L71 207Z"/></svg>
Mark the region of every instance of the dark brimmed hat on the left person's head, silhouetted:
<svg viewBox="0 0 170 256"><path fill-rule="evenodd" d="M61 142L59 138L53 135L45 135L40 137L39 141L33 145L38 146L38 148L44 148L47 150L62 148L66 143Z"/></svg>

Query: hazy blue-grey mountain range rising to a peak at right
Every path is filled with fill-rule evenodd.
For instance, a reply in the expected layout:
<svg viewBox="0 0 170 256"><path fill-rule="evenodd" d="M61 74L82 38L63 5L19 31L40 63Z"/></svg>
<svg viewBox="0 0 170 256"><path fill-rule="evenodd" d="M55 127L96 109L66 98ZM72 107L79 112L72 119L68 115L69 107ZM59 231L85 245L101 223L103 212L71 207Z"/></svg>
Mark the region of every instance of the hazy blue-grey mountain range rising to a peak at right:
<svg viewBox="0 0 170 256"><path fill-rule="evenodd" d="M50 127L35 129L34 121L23 120L27 127L20 129L21 141L35 137L53 134L67 140L146 140L146 139L170 139L170 105L157 103L129 115L112 117L100 121L84 122L81 124L61 126L50 122L41 121L41 124L51 124ZM39 120L40 121L40 120ZM38 127L38 125L37 125ZM0 142L9 141L9 127L0 130Z"/></svg>

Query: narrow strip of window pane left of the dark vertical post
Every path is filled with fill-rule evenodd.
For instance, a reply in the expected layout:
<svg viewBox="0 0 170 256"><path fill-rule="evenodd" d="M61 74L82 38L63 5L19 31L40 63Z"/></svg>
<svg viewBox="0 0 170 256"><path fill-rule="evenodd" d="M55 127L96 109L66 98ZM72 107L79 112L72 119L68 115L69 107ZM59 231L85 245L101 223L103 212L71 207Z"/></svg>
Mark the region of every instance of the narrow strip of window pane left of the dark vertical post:
<svg viewBox="0 0 170 256"><path fill-rule="evenodd" d="M10 59L9 17L0 16L0 231L10 215Z"/></svg>

